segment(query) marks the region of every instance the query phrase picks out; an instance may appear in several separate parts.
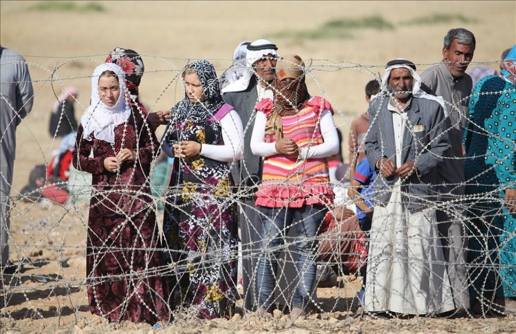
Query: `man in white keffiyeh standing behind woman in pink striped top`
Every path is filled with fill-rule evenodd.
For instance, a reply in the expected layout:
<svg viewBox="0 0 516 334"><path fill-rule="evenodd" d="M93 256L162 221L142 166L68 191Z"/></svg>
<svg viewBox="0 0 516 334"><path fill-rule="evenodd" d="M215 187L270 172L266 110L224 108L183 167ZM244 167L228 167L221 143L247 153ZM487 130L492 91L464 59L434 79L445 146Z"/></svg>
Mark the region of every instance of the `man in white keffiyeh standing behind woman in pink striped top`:
<svg viewBox="0 0 516 334"><path fill-rule="evenodd" d="M254 107L264 99L274 96L272 81L276 76L275 66L278 47L266 39L255 40L247 45L246 68L243 75L222 89L224 101L237 111L244 125L242 158L233 165L235 183L239 184L241 205L239 226L242 242L242 267L244 285L244 308L255 310L257 248L260 241L260 219L254 206L256 186L262 177L262 159L251 152L250 142L254 122Z"/></svg>

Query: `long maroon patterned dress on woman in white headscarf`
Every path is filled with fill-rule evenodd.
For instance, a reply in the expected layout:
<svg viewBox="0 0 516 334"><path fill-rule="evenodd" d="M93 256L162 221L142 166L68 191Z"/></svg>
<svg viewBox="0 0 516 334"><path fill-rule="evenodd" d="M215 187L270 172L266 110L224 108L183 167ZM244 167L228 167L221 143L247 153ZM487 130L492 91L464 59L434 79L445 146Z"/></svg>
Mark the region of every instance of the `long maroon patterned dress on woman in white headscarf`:
<svg viewBox="0 0 516 334"><path fill-rule="evenodd" d="M110 322L169 321L170 296L163 252L158 245L149 169L159 147L139 111L115 127L115 144L83 139L79 127L73 165L92 174L88 219L86 275L91 313ZM136 116L134 116L136 115ZM124 162L118 173L104 169L104 158L121 148L136 150L136 162ZM89 157L93 150L93 157Z"/></svg>

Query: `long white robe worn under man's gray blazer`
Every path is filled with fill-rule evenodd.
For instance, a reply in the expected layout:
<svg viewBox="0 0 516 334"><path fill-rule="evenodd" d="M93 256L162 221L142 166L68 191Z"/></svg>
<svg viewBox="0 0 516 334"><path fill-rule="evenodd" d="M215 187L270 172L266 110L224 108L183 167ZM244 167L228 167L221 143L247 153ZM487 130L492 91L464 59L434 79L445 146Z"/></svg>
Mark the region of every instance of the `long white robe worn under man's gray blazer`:
<svg viewBox="0 0 516 334"><path fill-rule="evenodd" d="M405 114L393 113L396 166L401 166ZM410 135L410 132L407 132ZM398 179L370 230L364 310L430 314L455 308L437 230L436 211L409 211Z"/></svg>

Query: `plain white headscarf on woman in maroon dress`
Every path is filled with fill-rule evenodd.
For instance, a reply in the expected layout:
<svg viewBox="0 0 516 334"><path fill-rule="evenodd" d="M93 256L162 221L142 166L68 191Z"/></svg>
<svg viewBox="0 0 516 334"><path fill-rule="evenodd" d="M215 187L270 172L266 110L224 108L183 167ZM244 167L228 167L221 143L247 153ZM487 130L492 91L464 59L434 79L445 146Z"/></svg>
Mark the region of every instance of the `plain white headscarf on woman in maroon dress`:
<svg viewBox="0 0 516 334"><path fill-rule="evenodd" d="M118 77L120 96L117 103L106 106L99 96L99 79L105 71L112 71ZM91 77L91 105L86 109L80 123L83 125L83 138L91 140L90 134L96 139L115 143L115 126L124 123L131 116L131 107L125 102L125 74L115 63L105 62L95 68Z"/></svg>

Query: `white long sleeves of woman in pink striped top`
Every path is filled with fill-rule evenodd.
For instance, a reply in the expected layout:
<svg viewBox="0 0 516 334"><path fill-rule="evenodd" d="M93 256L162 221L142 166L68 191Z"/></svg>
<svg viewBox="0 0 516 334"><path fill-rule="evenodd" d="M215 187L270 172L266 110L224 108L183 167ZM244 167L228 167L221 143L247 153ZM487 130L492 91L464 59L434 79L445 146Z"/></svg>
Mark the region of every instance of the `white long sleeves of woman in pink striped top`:
<svg viewBox="0 0 516 334"><path fill-rule="evenodd" d="M251 151L255 155L264 157L278 154L275 142L265 142L266 122L267 116L257 112L251 135ZM324 142L320 145L302 147L299 152L301 159L323 158L338 153L338 135L330 110L322 110L319 127Z"/></svg>

